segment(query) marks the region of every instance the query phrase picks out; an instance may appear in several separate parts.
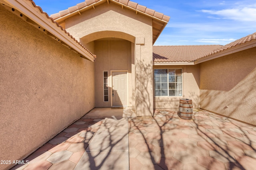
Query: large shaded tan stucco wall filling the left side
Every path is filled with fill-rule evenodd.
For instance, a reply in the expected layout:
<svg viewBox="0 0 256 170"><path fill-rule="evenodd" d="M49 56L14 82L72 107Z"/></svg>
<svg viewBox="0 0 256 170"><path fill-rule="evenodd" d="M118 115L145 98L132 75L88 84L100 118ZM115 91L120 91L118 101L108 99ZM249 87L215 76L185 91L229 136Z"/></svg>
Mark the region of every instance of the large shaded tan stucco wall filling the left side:
<svg viewBox="0 0 256 170"><path fill-rule="evenodd" d="M0 18L0 160L18 160L94 108L94 63L2 6Z"/></svg>

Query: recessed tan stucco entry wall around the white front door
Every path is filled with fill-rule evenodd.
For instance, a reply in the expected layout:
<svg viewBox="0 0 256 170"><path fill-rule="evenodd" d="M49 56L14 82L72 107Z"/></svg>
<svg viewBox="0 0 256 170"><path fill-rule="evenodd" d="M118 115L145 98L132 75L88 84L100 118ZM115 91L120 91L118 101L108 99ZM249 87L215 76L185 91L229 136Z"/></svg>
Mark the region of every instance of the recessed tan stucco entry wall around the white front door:
<svg viewBox="0 0 256 170"><path fill-rule="evenodd" d="M128 84L132 82L131 42L95 41L95 107L111 107L111 70L128 70ZM134 51L133 51L134 53ZM108 71L108 102L104 102L103 71ZM131 84L131 83L130 83ZM128 106L132 107L132 86L128 87Z"/></svg>

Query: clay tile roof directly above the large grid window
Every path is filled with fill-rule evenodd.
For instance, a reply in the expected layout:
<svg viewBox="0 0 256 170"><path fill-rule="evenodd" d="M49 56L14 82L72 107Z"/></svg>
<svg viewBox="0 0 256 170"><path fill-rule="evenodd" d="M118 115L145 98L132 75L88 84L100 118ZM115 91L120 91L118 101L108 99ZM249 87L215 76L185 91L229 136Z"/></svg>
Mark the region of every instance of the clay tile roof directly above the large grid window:
<svg viewBox="0 0 256 170"><path fill-rule="evenodd" d="M155 63L193 62L221 45L173 45L153 46Z"/></svg>

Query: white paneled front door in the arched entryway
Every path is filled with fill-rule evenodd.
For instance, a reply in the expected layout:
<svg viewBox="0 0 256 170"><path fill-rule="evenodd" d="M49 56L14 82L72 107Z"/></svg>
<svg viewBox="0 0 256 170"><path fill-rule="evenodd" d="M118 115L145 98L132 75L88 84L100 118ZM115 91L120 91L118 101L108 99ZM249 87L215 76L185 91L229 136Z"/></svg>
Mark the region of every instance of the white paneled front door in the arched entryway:
<svg viewBox="0 0 256 170"><path fill-rule="evenodd" d="M128 106L127 72L112 72L112 106Z"/></svg>

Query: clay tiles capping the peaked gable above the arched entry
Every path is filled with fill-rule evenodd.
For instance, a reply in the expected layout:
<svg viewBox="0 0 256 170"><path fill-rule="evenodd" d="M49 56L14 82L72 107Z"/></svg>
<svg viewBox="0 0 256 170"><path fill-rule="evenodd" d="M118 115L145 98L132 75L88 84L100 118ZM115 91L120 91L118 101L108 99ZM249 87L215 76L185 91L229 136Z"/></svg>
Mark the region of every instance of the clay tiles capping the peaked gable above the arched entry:
<svg viewBox="0 0 256 170"><path fill-rule="evenodd" d="M56 19L58 19L60 17L63 17L67 14L71 14L72 12L74 12L76 10L80 10L80 9L86 7L86 6L94 5L96 2L99 2L99 1L104 2L106 0L85 0L85 2L81 2L79 4L76 4L77 8L75 8L75 7L68 8L67 10L60 11L57 14L52 14L51 17L54 18L54 20L56 20ZM156 17L160 20L164 20L166 22L168 22L170 20L169 16L165 16L164 14L162 14L160 12L155 12L154 10L149 9L146 6L139 5L138 3L132 2L130 0L109 0L109 1L116 1L120 4L122 4L122 5L134 8L135 10L138 10L140 12L148 14L152 17Z"/></svg>

